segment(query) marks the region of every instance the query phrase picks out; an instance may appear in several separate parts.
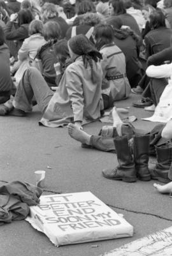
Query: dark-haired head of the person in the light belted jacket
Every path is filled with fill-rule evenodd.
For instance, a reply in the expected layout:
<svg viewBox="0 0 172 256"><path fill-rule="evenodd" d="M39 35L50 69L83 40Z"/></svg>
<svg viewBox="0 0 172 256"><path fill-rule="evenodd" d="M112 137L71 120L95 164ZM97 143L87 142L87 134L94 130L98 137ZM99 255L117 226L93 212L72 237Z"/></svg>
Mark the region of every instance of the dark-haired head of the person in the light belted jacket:
<svg viewBox="0 0 172 256"><path fill-rule="evenodd" d="M100 50L103 45L113 42L113 29L110 25L99 24L94 29L94 37L96 39L96 48Z"/></svg>

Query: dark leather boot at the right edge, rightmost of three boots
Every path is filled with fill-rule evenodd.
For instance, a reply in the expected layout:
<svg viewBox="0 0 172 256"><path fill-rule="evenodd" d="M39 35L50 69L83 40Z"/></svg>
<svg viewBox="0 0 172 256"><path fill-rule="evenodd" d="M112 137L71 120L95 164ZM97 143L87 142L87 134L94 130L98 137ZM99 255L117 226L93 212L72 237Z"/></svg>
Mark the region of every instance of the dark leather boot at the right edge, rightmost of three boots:
<svg viewBox="0 0 172 256"><path fill-rule="evenodd" d="M172 146L163 145L155 146L157 155L157 164L154 170L150 170L152 179L158 179L162 183L169 183L171 180L168 178L169 169L172 160Z"/></svg>

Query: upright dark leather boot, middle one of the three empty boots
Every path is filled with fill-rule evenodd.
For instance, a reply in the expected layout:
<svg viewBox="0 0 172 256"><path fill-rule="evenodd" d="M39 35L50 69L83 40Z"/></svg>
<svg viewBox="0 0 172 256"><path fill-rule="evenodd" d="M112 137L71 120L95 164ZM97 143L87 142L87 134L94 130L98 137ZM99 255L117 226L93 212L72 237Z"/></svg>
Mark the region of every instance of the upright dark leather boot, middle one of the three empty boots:
<svg viewBox="0 0 172 256"><path fill-rule="evenodd" d="M135 135L133 139L134 163L138 179L150 181L150 171L148 170L149 158L149 135Z"/></svg>

